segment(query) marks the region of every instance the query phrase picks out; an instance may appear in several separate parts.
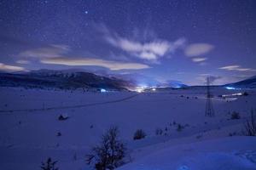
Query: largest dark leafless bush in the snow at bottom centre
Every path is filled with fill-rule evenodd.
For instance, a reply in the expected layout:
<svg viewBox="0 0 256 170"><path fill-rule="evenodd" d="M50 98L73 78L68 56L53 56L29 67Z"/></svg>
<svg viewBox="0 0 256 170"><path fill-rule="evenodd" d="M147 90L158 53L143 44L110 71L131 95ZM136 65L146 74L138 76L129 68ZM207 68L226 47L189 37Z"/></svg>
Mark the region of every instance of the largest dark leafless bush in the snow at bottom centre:
<svg viewBox="0 0 256 170"><path fill-rule="evenodd" d="M93 164L96 170L114 169L124 164L125 155L126 147L119 140L118 127L110 127L102 135L101 144L94 146L86 156L86 161Z"/></svg>

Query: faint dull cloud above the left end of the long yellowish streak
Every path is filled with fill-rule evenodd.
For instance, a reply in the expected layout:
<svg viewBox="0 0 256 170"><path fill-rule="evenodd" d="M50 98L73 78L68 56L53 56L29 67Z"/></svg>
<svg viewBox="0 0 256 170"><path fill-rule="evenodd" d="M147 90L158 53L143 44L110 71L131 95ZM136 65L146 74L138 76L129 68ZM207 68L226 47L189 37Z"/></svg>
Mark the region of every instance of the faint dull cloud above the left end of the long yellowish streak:
<svg viewBox="0 0 256 170"><path fill-rule="evenodd" d="M67 45L55 45L51 44L49 47L35 48L26 50L19 54L21 57L26 58L55 58L61 57L63 54L67 54L70 48Z"/></svg>

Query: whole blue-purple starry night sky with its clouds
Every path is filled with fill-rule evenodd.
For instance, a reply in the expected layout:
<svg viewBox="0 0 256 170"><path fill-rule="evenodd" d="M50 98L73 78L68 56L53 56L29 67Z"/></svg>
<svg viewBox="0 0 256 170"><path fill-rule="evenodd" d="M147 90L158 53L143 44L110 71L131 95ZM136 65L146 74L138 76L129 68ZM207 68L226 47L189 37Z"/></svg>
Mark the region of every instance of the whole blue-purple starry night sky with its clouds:
<svg viewBox="0 0 256 170"><path fill-rule="evenodd" d="M256 75L255 44L254 0L0 0L0 71L224 84Z"/></svg>

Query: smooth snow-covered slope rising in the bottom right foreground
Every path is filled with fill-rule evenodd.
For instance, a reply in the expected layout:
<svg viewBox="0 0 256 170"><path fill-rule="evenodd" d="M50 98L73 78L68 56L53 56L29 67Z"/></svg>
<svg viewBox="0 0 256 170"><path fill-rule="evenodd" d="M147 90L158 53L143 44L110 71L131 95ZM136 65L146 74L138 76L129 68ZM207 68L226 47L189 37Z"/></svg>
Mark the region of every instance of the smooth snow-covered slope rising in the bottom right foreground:
<svg viewBox="0 0 256 170"><path fill-rule="evenodd" d="M256 169L256 137L232 137L170 145L118 169L253 170Z"/></svg>

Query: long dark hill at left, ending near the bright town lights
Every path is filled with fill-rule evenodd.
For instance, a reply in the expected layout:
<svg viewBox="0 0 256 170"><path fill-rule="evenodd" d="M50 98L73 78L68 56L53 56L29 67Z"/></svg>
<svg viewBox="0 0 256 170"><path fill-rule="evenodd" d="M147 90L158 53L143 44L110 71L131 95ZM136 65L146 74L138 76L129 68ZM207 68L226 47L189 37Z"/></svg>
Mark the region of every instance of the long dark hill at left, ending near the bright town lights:
<svg viewBox="0 0 256 170"><path fill-rule="evenodd" d="M39 70L18 73L0 73L0 86L24 88L106 88L125 90L131 85L115 77L102 77L84 71Z"/></svg>

